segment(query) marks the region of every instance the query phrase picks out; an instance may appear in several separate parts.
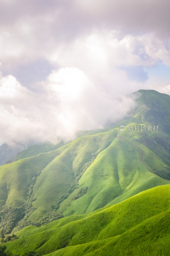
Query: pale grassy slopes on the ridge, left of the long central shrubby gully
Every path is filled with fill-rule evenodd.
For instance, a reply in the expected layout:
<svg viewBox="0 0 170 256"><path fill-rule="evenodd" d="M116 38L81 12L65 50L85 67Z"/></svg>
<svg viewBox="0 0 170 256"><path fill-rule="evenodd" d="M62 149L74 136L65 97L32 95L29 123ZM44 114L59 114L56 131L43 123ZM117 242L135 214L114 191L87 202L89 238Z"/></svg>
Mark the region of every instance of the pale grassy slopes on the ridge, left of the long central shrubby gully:
<svg viewBox="0 0 170 256"><path fill-rule="evenodd" d="M81 168L108 147L116 136L117 130L80 137L56 150L1 166L1 207L24 204L33 175L40 173L31 196L36 199L33 207L37 210L29 218L39 219L66 193Z"/></svg>

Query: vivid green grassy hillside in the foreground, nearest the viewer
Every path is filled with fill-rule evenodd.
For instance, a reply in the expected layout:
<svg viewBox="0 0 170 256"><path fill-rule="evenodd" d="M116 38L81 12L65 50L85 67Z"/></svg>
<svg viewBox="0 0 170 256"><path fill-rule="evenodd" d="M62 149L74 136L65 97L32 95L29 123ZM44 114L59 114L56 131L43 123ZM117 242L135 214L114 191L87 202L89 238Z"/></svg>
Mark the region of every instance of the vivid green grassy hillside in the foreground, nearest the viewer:
<svg viewBox="0 0 170 256"><path fill-rule="evenodd" d="M26 227L6 246L18 255L168 255L169 217L170 185L158 186L95 213Z"/></svg>

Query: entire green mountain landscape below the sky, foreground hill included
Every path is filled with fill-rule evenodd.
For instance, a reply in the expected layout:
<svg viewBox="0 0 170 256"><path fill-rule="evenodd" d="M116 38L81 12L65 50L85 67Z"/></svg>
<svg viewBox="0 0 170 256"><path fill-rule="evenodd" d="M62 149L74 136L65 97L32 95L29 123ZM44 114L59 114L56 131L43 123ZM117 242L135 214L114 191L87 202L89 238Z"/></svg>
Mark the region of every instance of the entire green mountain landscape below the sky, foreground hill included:
<svg viewBox="0 0 170 256"><path fill-rule="evenodd" d="M170 255L170 96L132 96L128 119L0 166L0 255Z"/></svg>

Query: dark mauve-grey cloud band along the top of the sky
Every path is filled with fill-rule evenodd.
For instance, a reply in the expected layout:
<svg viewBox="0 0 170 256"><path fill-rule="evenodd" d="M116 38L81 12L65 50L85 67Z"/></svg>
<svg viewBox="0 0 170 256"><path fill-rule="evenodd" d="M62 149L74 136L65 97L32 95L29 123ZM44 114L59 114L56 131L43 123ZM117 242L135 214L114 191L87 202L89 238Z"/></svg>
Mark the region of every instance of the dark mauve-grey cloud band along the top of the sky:
<svg viewBox="0 0 170 256"><path fill-rule="evenodd" d="M37 18L43 28L43 20L48 17L55 26L54 34L60 31L58 36L77 37L92 27L121 29L124 34L154 31L167 37L170 33L168 0L1 0L0 3L1 24L13 25L26 18Z"/></svg>

